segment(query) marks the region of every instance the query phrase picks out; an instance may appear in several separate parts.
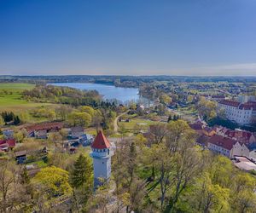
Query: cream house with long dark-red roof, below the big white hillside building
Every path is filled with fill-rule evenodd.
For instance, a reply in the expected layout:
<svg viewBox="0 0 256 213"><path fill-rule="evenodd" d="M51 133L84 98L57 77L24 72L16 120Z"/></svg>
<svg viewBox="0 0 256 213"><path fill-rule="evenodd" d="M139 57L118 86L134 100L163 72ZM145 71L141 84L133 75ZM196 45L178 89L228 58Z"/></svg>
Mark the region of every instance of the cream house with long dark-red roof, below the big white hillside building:
<svg viewBox="0 0 256 213"><path fill-rule="evenodd" d="M250 153L245 144L221 135L210 137L207 141L207 147L212 152L222 154L228 158L233 158L235 155L248 157Z"/></svg>

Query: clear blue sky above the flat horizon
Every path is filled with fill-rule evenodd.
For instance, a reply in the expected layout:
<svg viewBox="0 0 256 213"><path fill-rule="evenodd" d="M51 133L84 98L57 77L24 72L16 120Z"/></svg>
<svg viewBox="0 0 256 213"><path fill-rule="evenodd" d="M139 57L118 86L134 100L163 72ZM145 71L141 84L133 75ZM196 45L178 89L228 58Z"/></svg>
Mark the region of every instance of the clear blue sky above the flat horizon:
<svg viewBox="0 0 256 213"><path fill-rule="evenodd" d="M0 0L0 75L256 75L256 0Z"/></svg>

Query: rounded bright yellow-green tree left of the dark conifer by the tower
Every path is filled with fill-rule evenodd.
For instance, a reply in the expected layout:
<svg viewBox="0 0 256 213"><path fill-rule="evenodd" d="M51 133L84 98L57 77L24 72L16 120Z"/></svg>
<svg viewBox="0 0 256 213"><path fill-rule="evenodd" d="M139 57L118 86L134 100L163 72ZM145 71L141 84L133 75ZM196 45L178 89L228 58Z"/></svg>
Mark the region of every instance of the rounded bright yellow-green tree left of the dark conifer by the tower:
<svg viewBox="0 0 256 213"><path fill-rule="evenodd" d="M41 193L43 190L47 199L53 199L72 192L68 183L68 172L55 166L46 167L32 179L35 188Z"/></svg>

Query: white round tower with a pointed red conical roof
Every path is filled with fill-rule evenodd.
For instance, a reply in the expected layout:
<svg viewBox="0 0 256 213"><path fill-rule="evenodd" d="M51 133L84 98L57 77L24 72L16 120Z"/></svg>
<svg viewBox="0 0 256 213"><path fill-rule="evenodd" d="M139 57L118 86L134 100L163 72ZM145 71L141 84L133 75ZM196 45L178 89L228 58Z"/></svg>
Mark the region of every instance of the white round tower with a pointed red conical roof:
<svg viewBox="0 0 256 213"><path fill-rule="evenodd" d="M108 182L111 176L111 144L106 136L99 131L91 144L90 157L93 158L94 186Z"/></svg>

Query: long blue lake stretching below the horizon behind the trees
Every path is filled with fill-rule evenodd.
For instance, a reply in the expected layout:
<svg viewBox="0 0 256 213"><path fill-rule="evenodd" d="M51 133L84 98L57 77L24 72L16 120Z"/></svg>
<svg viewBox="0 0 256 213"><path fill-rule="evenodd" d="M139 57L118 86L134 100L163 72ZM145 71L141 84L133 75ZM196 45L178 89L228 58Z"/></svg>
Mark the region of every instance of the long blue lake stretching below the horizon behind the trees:
<svg viewBox="0 0 256 213"><path fill-rule="evenodd" d="M97 90L105 101L116 99L122 103L140 100L137 88L115 87L113 85L99 83L49 83L55 86L71 87L75 89Z"/></svg>

